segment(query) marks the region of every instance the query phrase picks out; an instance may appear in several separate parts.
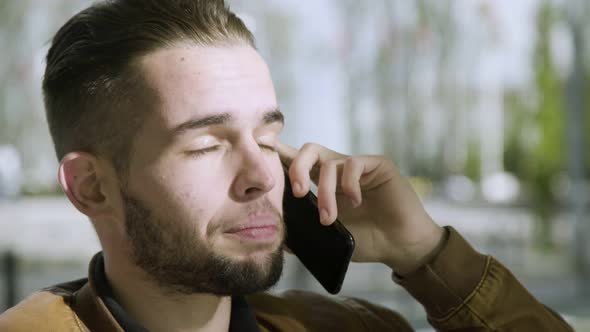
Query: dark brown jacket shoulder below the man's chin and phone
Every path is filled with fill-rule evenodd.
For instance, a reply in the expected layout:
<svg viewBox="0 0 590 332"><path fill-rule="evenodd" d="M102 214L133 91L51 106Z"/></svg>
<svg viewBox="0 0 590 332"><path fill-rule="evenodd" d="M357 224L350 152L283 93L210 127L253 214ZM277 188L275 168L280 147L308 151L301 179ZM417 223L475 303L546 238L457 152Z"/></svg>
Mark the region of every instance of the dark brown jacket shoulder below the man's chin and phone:
<svg viewBox="0 0 590 332"><path fill-rule="evenodd" d="M247 299L258 318L281 323L291 321L299 325L293 330L301 326L321 331L339 326L341 331L412 331L399 313L353 297L290 290L279 294L260 293Z"/></svg>

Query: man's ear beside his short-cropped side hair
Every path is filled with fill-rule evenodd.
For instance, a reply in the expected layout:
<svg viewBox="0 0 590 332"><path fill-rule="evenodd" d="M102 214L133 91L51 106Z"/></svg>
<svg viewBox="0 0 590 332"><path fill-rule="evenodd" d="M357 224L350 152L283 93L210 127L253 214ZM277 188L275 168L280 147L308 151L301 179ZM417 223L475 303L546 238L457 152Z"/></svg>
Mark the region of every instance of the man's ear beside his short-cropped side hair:
<svg viewBox="0 0 590 332"><path fill-rule="evenodd" d="M68 153L59 165L58 179L64 193L90 218L111 211L102 173L98 158L85 152Z"/></svg>

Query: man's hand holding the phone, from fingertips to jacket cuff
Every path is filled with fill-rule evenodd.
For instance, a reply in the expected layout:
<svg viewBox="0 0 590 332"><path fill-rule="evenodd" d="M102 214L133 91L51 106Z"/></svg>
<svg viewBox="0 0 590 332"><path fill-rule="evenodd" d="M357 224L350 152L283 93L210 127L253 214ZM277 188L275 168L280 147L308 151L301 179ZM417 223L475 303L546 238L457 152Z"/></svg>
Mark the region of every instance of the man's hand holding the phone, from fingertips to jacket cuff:
<svg viewBox="0 0 590 332"><path fill-rule="evenodd" d="M277 151L289 166L293 194L305 196L313 181L322 224L338 217L353 234L353 261L381 262L403 275L418 268L440 242L443 229L393 162L310 143L300 150L279 143Z"/></svg>

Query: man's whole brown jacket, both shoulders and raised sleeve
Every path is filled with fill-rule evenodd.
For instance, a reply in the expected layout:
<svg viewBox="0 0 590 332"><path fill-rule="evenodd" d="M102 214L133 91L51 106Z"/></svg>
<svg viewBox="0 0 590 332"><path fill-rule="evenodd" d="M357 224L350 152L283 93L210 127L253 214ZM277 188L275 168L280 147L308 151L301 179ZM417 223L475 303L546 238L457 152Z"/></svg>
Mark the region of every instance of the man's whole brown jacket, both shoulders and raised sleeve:
<svg viewBox="0 0 590 332"><path fill-rule="evenodd" d="M572 331L492 257L452 228L436 255L394 280L440 331ZM91 264L91 269L92 269ZM0 315L0 331L123 331L97 295L92 271L37 292ZM288 291L246 297L261 331L412 331L399 314L365 300Z"/></svg>

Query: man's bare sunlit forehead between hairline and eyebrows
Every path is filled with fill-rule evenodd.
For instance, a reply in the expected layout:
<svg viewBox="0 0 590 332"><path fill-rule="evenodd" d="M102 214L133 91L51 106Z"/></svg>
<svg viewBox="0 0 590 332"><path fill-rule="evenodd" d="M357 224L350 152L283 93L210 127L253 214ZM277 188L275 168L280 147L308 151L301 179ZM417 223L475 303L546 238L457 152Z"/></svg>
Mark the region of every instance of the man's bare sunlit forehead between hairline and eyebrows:
<svg viewBox="0 0 590 332"><path fill-rule="evenodd" d="M139 65L157 95L156 116L166 127L199 115L254 117L276 107L266 63L247 45L178 45L144 56Z"/></svg>

